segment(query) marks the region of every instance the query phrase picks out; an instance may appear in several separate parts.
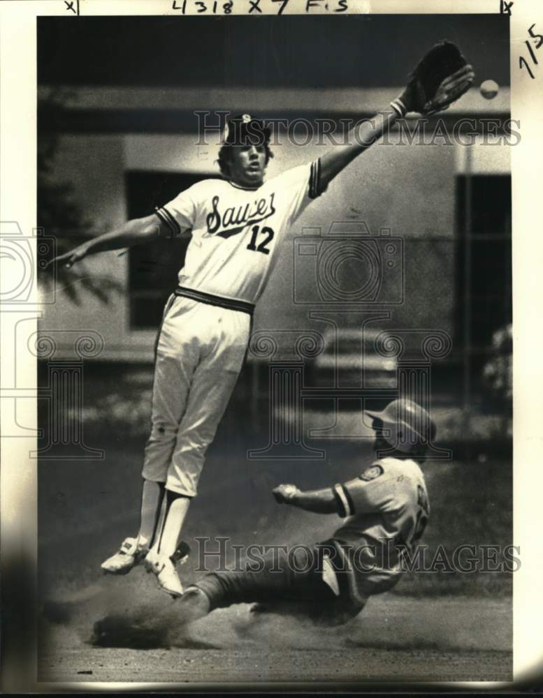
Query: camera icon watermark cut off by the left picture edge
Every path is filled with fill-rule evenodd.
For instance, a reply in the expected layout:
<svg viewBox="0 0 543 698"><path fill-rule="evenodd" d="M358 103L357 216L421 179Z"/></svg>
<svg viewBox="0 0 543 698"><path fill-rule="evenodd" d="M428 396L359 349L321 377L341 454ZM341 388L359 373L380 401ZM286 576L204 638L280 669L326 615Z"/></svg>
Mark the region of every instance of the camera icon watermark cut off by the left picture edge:
<svg viewBox="0 0 543 698"><path fill-rule="evenodd" d="M45 268L47 260L55 257L56 240L46 237L41 228L24 235L19 223L0 223L0 258L3 272L0 281L0 303L28 303L36 288L36 269ZM53 285L54 286L54 285ZM55 302L54 295L40 303Z"/></svg>

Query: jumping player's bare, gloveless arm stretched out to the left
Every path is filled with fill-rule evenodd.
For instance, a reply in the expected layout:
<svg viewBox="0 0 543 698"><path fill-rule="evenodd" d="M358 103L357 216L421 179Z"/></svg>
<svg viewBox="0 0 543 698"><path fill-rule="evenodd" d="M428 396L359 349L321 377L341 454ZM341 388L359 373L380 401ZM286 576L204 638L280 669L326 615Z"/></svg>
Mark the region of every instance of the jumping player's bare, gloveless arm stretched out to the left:
<svg viewBox="0 0 543 698"><path fill-rule="evenodd" d="M79 262L88 255L117 250L122 247L131 247L143 242L150 242L160 235L169 235L165 228L164 223L154 214L145 216L145 218L133 218L131 221L121 225L120 228L106 232L104 235L99 235L79 245L71 252L55 257L49 264L64 264L66 269L69 269L75 262Z"/></svg>

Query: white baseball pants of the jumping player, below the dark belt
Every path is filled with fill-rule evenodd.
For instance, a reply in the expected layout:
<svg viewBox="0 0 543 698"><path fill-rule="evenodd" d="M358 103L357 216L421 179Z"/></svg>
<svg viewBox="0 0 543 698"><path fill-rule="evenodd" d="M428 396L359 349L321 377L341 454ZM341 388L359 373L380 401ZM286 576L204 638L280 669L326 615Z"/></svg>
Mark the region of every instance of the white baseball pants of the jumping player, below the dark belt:
<svg viewBox="0 0 543 698"><path fill-rule="evenodd" d="M143 477L196 495L205 452L215 437L245 359L247 313L173 295L157 343L152 429Z"/></svg>

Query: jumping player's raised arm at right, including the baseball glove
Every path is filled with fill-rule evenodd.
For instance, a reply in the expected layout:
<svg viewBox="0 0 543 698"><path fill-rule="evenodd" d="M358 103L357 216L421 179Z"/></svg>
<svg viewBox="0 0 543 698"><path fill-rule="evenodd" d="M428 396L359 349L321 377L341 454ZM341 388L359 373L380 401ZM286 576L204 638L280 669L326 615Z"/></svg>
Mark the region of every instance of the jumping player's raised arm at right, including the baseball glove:
<svg viewBox="0 0 543 698"><path fill-rule="evenodd" d="M410 81L389 107L368 121L356 124L348 134L347 145L335 146L321 156L319 188L328 183L350 162L389 131L408 112L434 114L461 97L473 82L475 73L456 45L442 41L435 45L414 69Z"/></svg>

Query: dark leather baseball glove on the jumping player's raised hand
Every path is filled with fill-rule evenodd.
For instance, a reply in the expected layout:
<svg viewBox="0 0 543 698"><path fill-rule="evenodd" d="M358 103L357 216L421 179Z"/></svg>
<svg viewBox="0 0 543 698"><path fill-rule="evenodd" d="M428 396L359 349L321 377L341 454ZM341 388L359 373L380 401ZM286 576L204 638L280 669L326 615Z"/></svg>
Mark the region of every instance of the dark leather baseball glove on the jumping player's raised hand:
<svg viewBox="0 0 543 698"><path fill-rule="evenodd" d="M447 109L468 90L474 77L456 44L437 43L410 75L405 94L408 111L435 114Z"/></svg>

